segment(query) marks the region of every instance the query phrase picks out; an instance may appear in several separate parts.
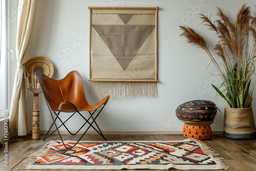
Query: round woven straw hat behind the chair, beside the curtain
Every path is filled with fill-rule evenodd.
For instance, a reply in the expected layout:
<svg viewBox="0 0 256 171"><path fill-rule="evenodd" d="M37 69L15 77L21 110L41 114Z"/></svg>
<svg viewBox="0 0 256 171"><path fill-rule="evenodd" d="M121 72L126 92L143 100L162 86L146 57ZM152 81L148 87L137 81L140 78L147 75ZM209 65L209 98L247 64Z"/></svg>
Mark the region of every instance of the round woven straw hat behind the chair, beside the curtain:
<svg viewBox="0 0 256 171"><path fill-rule="evenodd" d="M34 68L35 72L40 71L46 74L50 78L53 76L53 72L54 72L52 62L46 57L31 58L25 63L25 67L29 75L31 75L32 73L32 68Z"/></svg>

